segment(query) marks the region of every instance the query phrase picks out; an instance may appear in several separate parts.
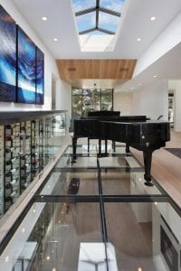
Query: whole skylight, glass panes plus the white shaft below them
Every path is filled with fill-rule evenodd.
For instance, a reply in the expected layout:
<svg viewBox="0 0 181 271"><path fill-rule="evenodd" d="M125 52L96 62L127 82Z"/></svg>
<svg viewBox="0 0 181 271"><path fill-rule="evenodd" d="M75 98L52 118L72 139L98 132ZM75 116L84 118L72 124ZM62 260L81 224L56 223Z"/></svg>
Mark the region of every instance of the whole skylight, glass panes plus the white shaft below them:
<svg viewBox="0 0 181 271"><path fill-rule="evenodd" d="M81 51L112 51L110 47L112 48L124 2L125 0L72 0ZM96 37L92 38L93 35ZM107 37L103 38L105 35Z"/></svg>

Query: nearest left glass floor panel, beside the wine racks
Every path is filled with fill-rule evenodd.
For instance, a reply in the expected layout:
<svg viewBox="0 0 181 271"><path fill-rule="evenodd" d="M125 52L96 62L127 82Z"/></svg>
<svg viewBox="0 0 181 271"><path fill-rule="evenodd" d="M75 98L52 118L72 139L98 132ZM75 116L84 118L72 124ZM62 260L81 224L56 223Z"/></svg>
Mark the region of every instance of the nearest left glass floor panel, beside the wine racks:
<svg viewBox="0 0 181 271"><path fill-rule="evenodd" d="M36 202L1 255L0 268L78 270L85 243L102 243L99 203Z"/></svg>

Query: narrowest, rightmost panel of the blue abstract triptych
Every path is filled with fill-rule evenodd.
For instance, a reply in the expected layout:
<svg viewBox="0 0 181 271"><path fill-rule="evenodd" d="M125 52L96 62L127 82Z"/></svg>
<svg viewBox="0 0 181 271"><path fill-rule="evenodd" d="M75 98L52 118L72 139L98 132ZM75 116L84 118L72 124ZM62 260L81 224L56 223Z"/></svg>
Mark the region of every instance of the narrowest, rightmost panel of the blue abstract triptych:
<svg viewBox="0 0 181 271"><path fill-rule="evenodd" d="M36 104L43 105L44 100L44 54L36 47Z"/></svg>

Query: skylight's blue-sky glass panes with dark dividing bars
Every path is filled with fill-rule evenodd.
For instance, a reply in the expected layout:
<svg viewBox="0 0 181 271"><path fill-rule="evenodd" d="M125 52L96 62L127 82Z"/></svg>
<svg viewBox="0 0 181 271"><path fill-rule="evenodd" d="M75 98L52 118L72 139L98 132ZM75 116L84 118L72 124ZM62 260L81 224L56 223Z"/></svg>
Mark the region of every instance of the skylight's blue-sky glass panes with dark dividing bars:
<svg viewBox="0 0 181 271"><path fill-rule="evenodd" d="M78 32L90 35L97 34L98 31L100 34L115 34L124 2L125 0L72 0Z"/></svg>

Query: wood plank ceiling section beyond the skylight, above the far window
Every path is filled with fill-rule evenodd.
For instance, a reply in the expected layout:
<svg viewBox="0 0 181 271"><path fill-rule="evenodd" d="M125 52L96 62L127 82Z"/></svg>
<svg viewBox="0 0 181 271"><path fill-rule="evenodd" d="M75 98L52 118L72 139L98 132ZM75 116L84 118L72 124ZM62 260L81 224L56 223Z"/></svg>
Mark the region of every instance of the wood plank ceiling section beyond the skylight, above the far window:
<svg viewBox="0 0 181 271"><path fill-rule="evenodd" d="M115 87L132 78L137 60L57 60L60 78L72 87L83 88L86 79L110 82ZM101 87L101 86L100 86ZM105 84L104 84L105 88Z"/></svg>

